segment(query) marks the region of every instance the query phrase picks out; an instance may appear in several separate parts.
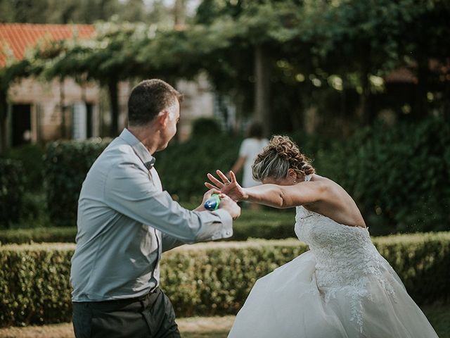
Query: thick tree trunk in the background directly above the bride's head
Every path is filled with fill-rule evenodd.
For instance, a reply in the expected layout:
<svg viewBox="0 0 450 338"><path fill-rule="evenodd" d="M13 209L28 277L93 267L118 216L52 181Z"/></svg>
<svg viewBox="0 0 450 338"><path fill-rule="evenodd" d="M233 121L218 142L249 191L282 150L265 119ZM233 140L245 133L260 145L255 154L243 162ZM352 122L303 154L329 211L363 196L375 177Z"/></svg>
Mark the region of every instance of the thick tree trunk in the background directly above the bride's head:
<svg viewBox="0 0 450 338"><path fill-rule="evenodd" d="M264 132L271 132L270 120L270 68L262 46L255 47L255 120L262 123Z"/></svg>

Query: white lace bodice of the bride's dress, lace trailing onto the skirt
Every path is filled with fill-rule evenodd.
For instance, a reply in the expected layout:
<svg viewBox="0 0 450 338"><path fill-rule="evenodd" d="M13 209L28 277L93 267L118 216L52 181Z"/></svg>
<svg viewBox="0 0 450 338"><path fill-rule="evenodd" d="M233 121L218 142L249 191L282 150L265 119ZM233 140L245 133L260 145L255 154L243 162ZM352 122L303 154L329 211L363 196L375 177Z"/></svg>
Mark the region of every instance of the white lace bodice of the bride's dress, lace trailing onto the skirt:
<svg viewBox="0 0 450 338"><path fill-rule="evenodd" d="M316 284L325 301L337 292L344 292L352 302L351 320L362 327L359 306L362 299L371 299L368 280L375 278L394 299L390 280L385 272L393 272L378 253L367 228L350 227L331 218L297 206L295 234L309 245L316 258Z"/></svg>

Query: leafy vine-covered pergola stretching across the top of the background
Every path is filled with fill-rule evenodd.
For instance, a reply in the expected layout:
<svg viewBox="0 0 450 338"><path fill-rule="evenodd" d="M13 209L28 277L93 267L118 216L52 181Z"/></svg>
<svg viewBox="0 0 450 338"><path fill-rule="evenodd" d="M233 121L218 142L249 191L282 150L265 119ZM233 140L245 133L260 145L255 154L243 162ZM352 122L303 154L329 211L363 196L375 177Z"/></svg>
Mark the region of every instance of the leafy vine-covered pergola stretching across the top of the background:
<svg viewBox="0 0 450 338"><path fill-rule="evenodd" d="M288 123L298 127L302 111L314 100L311 93L325 89L342 95L351 89L359 96L359 123L370 123L368 98L383 87L373 79L400 67L417 78L417 116L427 113L430 90L442 93L442 111L449 114L448 1L238 1L233 11L212 6L215 1L203 1L195 22L181 28L98 23L93 39L38 45L23 60L10 59L0 68L1 149L6 146L8 88L30 76L95 80L107 87L110 135L117 134L120 80L173 81L200 72L217 92L233 99L239 114L250 112L268 132L274 115L280 116L271 101L289 101L288 109L277 107L288 110ZM215 9L205 13L205 8ZM430 68L430 61L437 66ZM340 110L349 114L345 102Z"/></svg>

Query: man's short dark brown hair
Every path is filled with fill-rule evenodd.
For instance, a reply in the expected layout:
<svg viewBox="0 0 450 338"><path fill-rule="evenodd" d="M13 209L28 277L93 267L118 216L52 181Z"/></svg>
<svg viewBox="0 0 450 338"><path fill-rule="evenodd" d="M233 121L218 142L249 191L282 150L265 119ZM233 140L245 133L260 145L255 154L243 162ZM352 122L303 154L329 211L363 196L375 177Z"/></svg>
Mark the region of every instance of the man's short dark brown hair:
<svg viewBox="0 0 450 338"><path fill-rule="evenodd" d="M143 80L131 90L128 123L130 126L147 125L161 111L182 99L183 96L167 82L159 79Z"/></svg>

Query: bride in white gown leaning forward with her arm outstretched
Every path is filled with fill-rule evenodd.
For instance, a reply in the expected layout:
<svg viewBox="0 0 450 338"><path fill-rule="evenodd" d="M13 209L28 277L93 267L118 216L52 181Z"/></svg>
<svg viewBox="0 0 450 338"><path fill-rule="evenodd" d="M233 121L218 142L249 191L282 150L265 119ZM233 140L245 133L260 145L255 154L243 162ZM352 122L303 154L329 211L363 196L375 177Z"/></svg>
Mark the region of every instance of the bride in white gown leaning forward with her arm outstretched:
<svg viewBox="0 0 450 338"><path fill-rule="evenodd" d="M252 170L262 185L240 187L220 170L205 185L236 201L296 207L295 234L310 250L257 280L229 337L437 337L373 246L352 197L316 175L295 143L272 137Z"/></svg>

